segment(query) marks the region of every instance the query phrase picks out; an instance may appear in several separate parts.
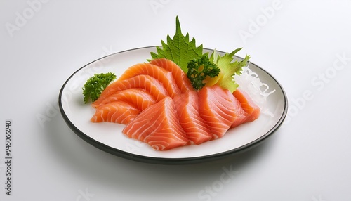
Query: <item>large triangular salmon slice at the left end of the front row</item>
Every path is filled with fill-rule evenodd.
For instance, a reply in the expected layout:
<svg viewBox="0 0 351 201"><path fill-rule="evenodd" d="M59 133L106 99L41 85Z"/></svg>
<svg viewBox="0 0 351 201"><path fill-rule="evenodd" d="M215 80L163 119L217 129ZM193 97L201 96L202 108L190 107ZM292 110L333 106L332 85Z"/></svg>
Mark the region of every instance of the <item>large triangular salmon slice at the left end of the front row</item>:
<svg viewBox="0 0 351 201"><path fill-rule="evenodd" d="M169 150L188 144L178 119L173 99L166 97L140 112L122 132L129 138L147 143L154 150Z"/></svg>

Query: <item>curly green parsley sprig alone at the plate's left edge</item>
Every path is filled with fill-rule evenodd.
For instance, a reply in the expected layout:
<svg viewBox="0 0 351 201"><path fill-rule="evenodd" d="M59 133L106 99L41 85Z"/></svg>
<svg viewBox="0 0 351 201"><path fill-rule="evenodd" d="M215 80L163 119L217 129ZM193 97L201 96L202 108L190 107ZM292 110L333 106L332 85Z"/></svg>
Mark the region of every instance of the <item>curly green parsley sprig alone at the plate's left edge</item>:
<svg viewBox="0 0 351 201"><path fill-rule="evenodd" d="M116 79L116 75L113 72L94 74L93 77L89 78L83 87L84 103L98 100L102 91Z"/></svg>

